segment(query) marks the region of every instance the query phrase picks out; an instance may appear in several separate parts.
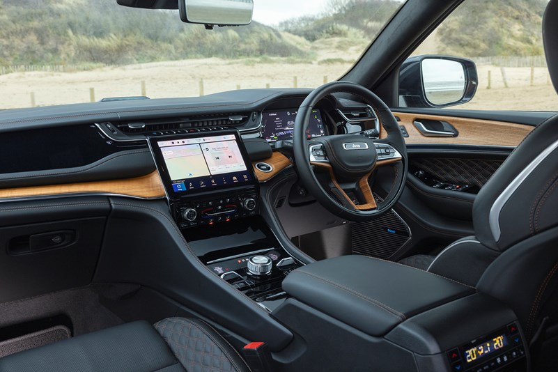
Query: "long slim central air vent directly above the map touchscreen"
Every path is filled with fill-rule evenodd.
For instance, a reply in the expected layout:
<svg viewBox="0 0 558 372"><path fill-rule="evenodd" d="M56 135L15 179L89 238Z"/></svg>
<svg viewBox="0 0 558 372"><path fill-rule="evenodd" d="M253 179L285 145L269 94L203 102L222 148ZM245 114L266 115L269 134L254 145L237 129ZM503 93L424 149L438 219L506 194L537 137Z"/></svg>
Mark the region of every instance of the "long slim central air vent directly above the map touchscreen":
<svg viewBox="0 0 558 372"><path fill-rule="evenodd" d="M123 133L147 134L151 132L189 130L203 127L239 127L245 125L250 116L251 113L210 114L185 118L166 118L153 121L126 121L113 124Z"/></svg>

